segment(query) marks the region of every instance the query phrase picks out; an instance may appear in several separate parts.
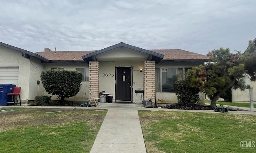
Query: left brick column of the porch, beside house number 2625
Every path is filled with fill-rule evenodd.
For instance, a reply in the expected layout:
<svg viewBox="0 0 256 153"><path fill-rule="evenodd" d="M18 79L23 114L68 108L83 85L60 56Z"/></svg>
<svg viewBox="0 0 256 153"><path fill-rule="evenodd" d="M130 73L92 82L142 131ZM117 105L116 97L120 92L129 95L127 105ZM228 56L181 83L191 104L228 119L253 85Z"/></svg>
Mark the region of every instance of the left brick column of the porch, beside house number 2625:
<svg viewBox="0 0 256 153"><path fill-rule="evenodd" d="M98 97L99 95L99 62L90 61L89 62L89 91L93 91ZM91 99L91 94L89 93L89 100Z"/></svg>

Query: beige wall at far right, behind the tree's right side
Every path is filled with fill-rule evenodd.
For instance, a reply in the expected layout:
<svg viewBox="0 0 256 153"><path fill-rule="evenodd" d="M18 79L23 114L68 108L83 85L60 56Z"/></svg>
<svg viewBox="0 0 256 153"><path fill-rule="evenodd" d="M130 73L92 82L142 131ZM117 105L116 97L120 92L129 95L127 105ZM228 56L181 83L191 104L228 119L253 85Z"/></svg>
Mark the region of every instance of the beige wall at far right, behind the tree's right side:
<svg viewBox="0 0 256 153"><path fill-rule="evenodd" d="M248 84L253 87L253 101L256 101L256 82L249 81ZM232 89L232 102L250 102L250 90Z"/></svg>

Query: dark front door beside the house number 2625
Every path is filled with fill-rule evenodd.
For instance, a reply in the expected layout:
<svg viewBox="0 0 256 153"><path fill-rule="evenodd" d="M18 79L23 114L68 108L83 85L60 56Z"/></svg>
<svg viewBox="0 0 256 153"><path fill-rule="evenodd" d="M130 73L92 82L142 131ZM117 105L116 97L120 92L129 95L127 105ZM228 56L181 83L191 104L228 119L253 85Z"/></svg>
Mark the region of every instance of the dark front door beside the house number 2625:
<svg viewBox="0 0 256 153"><path fill-rule="evenodd" d="M116 101L131 101L131 68L116 68Z"/></svg>

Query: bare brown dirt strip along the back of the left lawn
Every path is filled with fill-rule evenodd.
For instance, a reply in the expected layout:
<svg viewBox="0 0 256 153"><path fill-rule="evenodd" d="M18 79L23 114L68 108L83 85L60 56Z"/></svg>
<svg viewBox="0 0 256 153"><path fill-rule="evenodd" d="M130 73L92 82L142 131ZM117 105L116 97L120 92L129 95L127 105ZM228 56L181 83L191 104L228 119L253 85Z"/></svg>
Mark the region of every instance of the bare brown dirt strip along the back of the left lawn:
<svg viewBox="0 0 256 153"><path fill-rule="evenodd" d="M104 115L94 113L95 111L92 109L5 109L0 111L0 132L24 125L54 125L73 121L85 121L94 129L96 124L104 118Z"/></svg>

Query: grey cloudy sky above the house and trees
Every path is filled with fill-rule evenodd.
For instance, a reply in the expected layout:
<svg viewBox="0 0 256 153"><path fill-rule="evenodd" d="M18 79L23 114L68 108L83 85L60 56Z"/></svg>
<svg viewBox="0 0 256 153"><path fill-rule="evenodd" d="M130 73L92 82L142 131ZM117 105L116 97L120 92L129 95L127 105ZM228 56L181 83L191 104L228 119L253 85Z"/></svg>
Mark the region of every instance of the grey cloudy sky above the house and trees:
<svg viewBox="0 0 256 153"><path fill-rule="evenodd" d="M41 52L120 42L206 55L256 38L256 0L1 0L0 42Z"/></svg>

